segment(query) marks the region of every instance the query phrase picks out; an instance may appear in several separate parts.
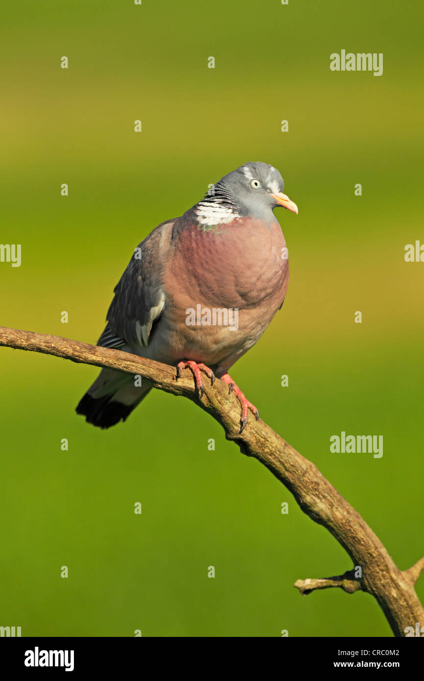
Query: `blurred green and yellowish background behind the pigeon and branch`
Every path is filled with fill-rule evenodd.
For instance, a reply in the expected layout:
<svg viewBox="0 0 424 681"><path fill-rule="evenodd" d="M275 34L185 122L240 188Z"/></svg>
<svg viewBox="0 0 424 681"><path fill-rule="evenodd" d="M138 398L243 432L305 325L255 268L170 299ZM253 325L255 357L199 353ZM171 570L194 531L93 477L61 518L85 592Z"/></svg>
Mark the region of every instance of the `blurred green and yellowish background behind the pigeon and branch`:
<svg viewBox="0 0 424 681"><path fill-rule="evenodd" d="M0 41L0 242L22 244L20 268L0 264L0 324L95 343L135 245L238 165L272 163L299 206L276 211L291 281L232 374L402 569L423 554L424 264L404 262L424 241L422 16L419 1L24 0ZM342 48L383 52L383 75L331 72ZM97 369L1 349L0 370L1 625L391 635L368 595L299 595L350 560L189 400L154 391L103 432L74 411ZM384 455L330 454L341 430L382 434Z"/></svg>

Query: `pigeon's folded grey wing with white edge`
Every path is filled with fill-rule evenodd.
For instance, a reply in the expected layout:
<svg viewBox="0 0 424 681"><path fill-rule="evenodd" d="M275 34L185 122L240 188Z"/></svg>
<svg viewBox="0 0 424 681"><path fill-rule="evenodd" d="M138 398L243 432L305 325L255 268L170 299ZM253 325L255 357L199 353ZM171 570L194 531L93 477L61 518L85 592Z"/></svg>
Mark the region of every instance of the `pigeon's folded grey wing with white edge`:
<svg viewBox="0 0 424 681"><path fill-rule="evenodd" d="M97 345L119 348L143 347L153 323L159 320L166 304L163 270L172 238L173 221L156 227L135 249L133 257L114 289L108 325Z"/></svg>

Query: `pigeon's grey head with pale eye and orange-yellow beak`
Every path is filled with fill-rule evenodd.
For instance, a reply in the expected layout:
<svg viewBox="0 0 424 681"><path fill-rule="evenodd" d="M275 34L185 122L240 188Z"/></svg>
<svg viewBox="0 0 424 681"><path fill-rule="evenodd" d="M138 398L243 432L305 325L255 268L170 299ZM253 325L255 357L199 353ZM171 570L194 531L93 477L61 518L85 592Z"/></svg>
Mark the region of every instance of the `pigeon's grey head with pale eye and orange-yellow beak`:
<svg viewBox="0 0 424 681"><path fill-rule="evenodd" d="M209 200L240 216L268 221L277 206L297 213L296 204L282 193L283 189L284 181L273 165L254 161L240 165L212 185L203 201Z"/></svg>

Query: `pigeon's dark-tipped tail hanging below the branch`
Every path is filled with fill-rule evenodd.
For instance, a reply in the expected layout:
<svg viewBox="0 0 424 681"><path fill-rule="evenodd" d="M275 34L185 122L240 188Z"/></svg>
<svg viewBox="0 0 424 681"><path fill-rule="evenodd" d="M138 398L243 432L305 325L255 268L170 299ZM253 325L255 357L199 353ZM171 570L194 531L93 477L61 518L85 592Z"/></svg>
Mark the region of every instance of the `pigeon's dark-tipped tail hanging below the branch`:
<svg viewBox="0 0 424 681"><path fill-rule="evenodd" d="M141 384L140 377L102 369L78 403L77 414L99 428L110 428L127 416L146 397L151 388Z"/></svg>

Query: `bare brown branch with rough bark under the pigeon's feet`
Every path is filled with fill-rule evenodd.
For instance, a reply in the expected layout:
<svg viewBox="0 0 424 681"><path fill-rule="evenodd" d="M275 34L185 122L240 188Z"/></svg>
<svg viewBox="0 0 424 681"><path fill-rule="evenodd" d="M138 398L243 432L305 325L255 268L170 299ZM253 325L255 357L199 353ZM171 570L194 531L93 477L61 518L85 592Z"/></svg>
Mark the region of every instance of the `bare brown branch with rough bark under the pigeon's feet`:
<svg viewBox="0 0 424 681"><path fill-rule="evenodd" d="M397 637L404 637L406 627L415 628L416 622L424 624L424 609L414 590L414 584L424 569L424 557L410 569L399 570L359 513L311 461L301 456L270 426L262 420L255 422L251 417L248 427L239 434L240 405L235 396L229 395L228 385L223 381L216 380L213 386L205 381L205 392L199 400L188 369L177 381L175 369L166 364L59 336L4 327L0 327L1 345L138 374L152 387L196 402L223 426L228 440L234 441L243 454L255 457L287 487L301 510L327 528L352 560L353 570L339 577L297 580L295 586L301 593L338 586L348 593L357 590L368 592L382 608ZM361 573L361 577L354 577L356 573Z"/></svg>

